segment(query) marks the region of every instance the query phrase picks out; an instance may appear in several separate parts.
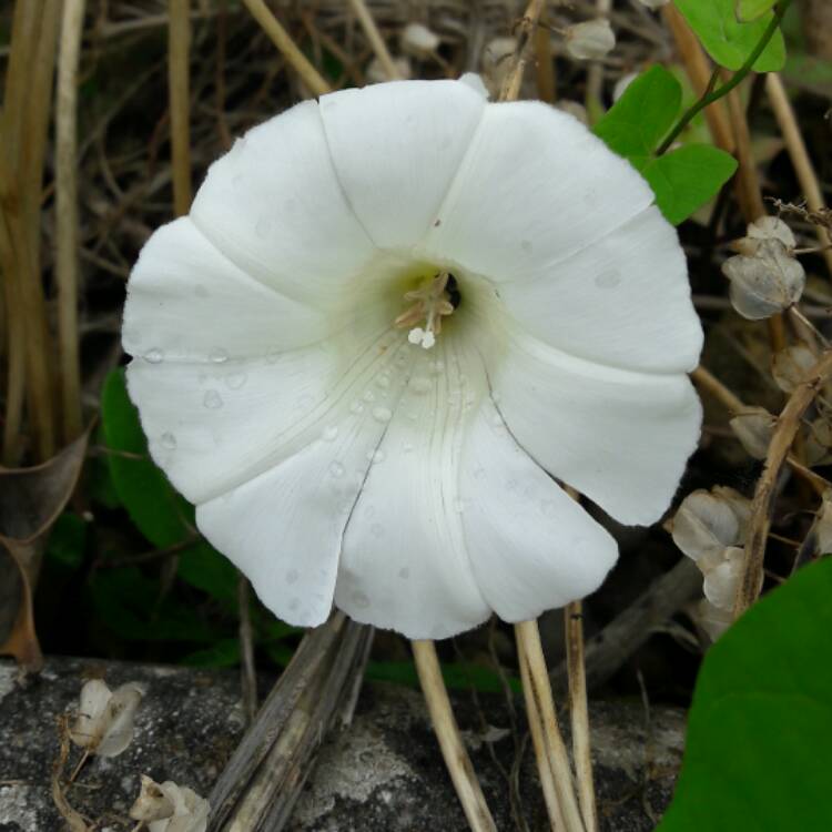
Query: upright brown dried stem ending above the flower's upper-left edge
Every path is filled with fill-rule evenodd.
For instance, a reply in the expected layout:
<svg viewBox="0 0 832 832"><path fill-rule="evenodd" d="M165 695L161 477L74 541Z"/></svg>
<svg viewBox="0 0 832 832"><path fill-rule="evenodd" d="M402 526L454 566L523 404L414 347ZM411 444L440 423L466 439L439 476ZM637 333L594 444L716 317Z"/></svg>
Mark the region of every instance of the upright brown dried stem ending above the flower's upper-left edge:
<svg viewBox="0 0 832 832"><path fill-rule="evenodd" d="M170 0L168 89L171 108L173 211L191 210L190 0Z"/></svg>

